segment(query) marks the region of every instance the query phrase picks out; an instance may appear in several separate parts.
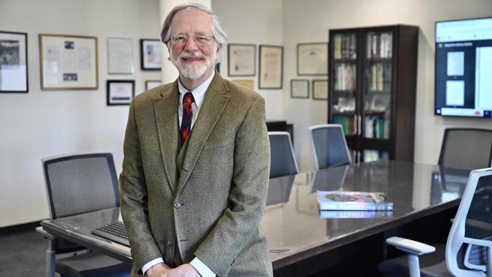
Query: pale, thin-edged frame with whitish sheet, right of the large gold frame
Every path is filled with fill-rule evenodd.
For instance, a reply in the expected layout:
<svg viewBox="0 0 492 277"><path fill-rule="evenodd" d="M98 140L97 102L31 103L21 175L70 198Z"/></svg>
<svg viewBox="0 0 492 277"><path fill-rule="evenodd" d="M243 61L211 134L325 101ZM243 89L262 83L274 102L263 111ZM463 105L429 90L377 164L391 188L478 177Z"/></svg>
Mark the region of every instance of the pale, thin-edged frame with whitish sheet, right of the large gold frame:
<svg viewBox="0 0 492 277"><path fill-rule="evenodd" d="M108 37L108 74L133 74L133 40Z"/></svg>

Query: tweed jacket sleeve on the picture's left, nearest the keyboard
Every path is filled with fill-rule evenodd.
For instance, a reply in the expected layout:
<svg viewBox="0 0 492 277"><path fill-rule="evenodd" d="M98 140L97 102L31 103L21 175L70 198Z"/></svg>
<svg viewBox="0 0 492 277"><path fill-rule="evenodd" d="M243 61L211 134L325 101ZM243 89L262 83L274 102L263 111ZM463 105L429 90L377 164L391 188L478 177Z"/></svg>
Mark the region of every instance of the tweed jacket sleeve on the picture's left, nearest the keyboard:
<svg viewBox="0 0 492 277"><path fill-rule="evenodd" d="M135 121L134 100L130 103L123 154L123 171L119 180L121 213L131 246L133 268L142 274L141 269L146 263L162 255L150 231L147 187Z"/></svg>

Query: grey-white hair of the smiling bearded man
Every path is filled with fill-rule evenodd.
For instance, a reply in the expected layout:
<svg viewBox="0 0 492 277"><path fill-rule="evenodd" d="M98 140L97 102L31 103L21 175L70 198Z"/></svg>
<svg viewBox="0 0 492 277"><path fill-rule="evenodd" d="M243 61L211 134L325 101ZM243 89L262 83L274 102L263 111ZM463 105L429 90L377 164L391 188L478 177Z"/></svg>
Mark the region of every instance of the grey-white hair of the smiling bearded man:
<svg viewBox="0 0 492 277"><path fill-rule="evenodd" d="M162 28L160 29L160 40L164 43L168 42L171 37L171 21L176 13L182 9L186 8L196 8L203 12L210 14L212 17L212 35L215 37L215 43L221 43L220 50L218 53L218 58L216 59L216 63L220 62L220 57L222 56L222 51L224 50L225 43L227 42L227 34L225 33L222 26L220 26L220 20L218 16L215 15L214 11L202 4L198 3L184 3L181 5L175 6L167 15L164 23L162 24Z"/></svg>

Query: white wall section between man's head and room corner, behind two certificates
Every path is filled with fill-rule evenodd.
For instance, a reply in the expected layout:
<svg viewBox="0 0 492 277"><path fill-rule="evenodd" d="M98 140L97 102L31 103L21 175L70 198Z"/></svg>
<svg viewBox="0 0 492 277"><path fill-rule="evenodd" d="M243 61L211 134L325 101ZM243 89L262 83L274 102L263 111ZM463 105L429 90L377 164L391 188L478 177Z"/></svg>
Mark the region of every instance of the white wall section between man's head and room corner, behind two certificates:
<svg viewBox="0 0 492 277"><path fill-rule="evenodd" d="M283 101L282 95L285 90L258 89L259 45L283 45L282 0L212 0L212 9L214 9L220 18L222 27L225 29L227 35L229 35L227 43L256 44L255 76L228 76L227 45L222 54L220 75L229 80L252 79L254 90L265 98L267 119L283 119L284 116L281 107Z"/></svg>

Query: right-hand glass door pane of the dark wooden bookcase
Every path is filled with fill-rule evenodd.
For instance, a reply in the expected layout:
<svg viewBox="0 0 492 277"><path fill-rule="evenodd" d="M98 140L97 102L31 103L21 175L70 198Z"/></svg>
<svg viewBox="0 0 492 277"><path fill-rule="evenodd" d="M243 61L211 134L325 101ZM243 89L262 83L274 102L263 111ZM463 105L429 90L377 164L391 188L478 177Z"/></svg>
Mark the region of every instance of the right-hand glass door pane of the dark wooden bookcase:
<svg viewBox="0 0 492 277"><path fill-rule="evenodd" d="M363 106L365 118L362 136L364 138L390 139L392 32L367 32L364 45L366 48L364 51L366 55L364 65L366 78Z"/></svg>

